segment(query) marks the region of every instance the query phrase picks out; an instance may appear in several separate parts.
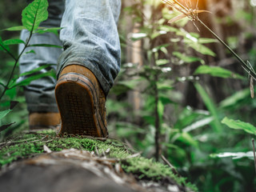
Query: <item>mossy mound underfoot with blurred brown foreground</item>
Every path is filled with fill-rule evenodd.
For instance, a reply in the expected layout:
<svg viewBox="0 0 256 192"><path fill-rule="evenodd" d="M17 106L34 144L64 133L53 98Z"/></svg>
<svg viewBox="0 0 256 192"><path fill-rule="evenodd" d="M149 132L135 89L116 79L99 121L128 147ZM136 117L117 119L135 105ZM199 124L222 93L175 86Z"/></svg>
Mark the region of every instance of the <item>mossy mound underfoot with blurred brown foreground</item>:
<svg viewBox="0 0 256 192"><path fill-rule="evenodd" d="M0 143L0 189L13 191L197 191L174 168L114 139L26 131Z"/></svg>

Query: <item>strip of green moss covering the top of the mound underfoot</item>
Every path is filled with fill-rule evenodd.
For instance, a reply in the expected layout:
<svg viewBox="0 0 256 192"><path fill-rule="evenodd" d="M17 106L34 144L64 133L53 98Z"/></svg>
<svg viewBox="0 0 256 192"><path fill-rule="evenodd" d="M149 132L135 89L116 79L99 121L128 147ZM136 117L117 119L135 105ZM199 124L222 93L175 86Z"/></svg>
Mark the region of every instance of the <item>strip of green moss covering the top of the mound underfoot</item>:
<svg viewBox="0 0 256 192"><path fill-rule="evenodd" d="M126 173L134 174L139 179L161 181L164 178L172 178L180 186L197 191L196 187L186 183L186 178L180 178L173 174L169 166L160 162L154 162L153 159L136 157L129 158L132 154L126 149L122 142L107 139L100 141L93 138L84 138L81 136L57 137L54 130L44 130L32 134L19 134L12 138L7 138L5 142L0 143L0 166L10 164L22 158L30 158L36 154L44 152L43 146L46 145L52 151L64 149L78 149L94 151L98 155L106 155L108 158L118 158L122 169ZM106 151L108 150L107 154Z"/></svg>

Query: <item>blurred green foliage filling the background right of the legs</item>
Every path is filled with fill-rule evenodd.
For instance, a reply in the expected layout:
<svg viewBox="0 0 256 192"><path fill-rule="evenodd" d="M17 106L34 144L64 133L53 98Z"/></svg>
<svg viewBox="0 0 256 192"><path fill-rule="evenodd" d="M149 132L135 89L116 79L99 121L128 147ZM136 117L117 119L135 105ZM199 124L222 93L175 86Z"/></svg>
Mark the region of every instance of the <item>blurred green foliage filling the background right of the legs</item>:
<svg viewBox="0 0 256 192"><path fill-rule="evenodd" d="M191 30L187 19L170 26L167 21L177 13L160 2L133 1L122 12L123 52L135 46L134 52L141 54L142 64L128 62L122 65L107 103L110 133L141 150L143 155L152 157L156 151L156 119L159 118L160 153L182 175L196 183L200 191L254 191L251 136L242 131L254 130L254 126L246 122L256 123L252 115L256 102L250 98L247 75L234 66L209 66L209 61L219 60L214 46L210 45L216 40L206 37L204 30ZM130 24L128 31L123 30L122 26L127 26L130 18L136 24ZM219 18L220 21L225 19ZM222 23L223 29L237 27L238 19L241 18L232 18L228 25ZM222 34L223 40L231 48L241 50L239 34L232 32L232 35ZM246 35L244 41L254 38L252 34ZM138 41L141 47L134 44ZM254 63L254 47L246 44L244 48L247 58ZM228 52L225 54L230 56ZM213 56L215 58L211 58ZM122 59L123 62L129 60ZM212 92L214 85L206 82L206 77L217 82L217 92ZM240 89L228 86L230 84ZM195 92L182 90L188 85L193 86ZM135 95L135 99L130 95ZM139 106L134 107L134 103ZM195 105L187 106L186 103ZM230 122L222 121L223 118L230 119L231 124L240 122L242 130L230 130Z"/></svg>

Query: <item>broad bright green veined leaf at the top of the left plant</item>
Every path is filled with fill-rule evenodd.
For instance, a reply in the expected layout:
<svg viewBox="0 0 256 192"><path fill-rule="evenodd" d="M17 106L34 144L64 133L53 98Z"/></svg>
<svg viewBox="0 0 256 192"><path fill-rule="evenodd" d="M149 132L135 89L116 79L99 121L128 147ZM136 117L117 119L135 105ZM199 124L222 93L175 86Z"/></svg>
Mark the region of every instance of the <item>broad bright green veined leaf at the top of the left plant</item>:
<svg viewBox="0 0 256 192"><path fill-rule="evenodd" d="M29 31L38 29L41 22L48 18L47 0L34 0L22 11L22 25Z"/></svg>

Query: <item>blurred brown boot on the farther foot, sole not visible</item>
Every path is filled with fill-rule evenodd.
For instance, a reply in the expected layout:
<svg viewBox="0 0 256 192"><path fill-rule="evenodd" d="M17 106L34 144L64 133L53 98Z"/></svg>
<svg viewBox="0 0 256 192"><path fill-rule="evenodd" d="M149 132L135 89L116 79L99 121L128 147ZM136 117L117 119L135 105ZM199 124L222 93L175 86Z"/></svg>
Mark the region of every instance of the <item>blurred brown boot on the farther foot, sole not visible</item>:
<svg viewBox="0 0 256 192"><path fill-rule="evenodd" d="M54 129L61 122L59 113L30 113L30 130Z"/></svg>

